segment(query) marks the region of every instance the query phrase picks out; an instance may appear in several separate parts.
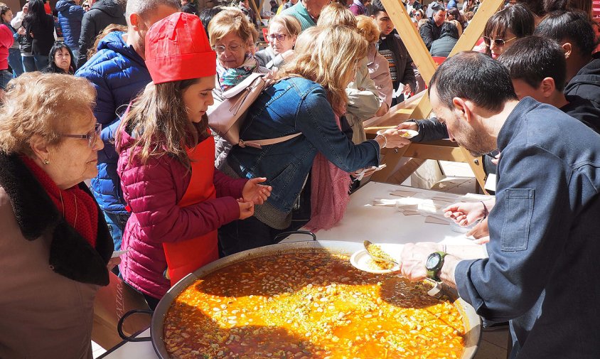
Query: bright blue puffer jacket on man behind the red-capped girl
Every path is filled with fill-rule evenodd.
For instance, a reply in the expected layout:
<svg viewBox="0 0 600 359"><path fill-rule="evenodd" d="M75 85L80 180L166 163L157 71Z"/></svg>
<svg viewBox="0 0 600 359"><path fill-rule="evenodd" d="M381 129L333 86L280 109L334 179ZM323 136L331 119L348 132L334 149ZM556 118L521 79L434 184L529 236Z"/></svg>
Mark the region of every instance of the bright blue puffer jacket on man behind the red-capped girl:
<svg viewBox="0 0 600 359"><path fill-rule="evenodd" d="M105 148L98 152L98 176L92 178L92 193L105 212L126 214L117 176L119 155L114 150L114 131L119 114L151 81L144 60L131 45L123 41L122 32L109 33L98 44L98 52L77 70L96 87L94 115L102 124Z"/></svg>

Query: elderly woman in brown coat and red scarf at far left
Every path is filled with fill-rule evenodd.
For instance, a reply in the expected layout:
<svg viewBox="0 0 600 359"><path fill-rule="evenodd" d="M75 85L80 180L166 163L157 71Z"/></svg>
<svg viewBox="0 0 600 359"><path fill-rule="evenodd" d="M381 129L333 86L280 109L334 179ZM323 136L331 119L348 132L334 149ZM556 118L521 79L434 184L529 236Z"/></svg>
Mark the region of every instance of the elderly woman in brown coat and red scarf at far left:
<svg viewBox="0 0 600 359"><path fill-rule="evenodd" d="M92 358L96 291L112 238L84 180L104 145L95 90L26 73L0 113L0 358Z"/></svg>

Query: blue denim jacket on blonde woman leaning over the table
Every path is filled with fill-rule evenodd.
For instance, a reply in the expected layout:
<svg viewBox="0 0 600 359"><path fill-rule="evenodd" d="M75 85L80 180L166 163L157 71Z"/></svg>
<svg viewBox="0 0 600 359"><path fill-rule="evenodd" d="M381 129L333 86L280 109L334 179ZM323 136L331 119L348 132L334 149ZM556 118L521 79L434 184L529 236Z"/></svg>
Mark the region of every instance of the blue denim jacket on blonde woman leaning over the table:
<svg viewBox="0 0 600 359"><path fill-rule="evenodd" d="M291 77L265 89L248 110L240 139L274 139L302 132L289 141L262 149L234 146L227 164L242 178L267 177L273 186L268 202L291 212L314 157L321 152L344 171L379 164L379 144L355 145L341 132L325 90L302 77Z"/></svg>

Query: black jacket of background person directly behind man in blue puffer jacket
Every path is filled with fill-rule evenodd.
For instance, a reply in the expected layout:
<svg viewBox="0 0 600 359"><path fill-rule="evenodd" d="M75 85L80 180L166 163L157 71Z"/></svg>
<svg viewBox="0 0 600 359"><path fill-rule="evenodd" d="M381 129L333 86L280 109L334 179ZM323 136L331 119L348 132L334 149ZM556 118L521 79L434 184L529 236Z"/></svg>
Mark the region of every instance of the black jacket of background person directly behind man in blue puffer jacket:
<svg viewBox="0 0 600 359"><path fill-rule="evenodd" d="M96 36L112 23L127 26L125 9L117 0L99 0L87 11L81 21L81 35L79 38L79 58L77 68L87 61L87 50L92 48Z"/></svg>

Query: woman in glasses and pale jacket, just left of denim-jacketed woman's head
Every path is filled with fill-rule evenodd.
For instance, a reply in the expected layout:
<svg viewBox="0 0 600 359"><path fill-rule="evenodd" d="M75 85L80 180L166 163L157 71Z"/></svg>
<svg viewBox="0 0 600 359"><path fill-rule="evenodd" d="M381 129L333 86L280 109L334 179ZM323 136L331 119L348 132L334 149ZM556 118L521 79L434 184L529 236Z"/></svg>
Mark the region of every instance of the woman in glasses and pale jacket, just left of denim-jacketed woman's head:
<svg viewBox="0 0 600 359"><path fill-rule="evenodd" d="M269 21L267 41L269 46L255 53L258 63L265 68L279 68L294 55L294 45L302 31L294 16L277 15Z"/></svg>

